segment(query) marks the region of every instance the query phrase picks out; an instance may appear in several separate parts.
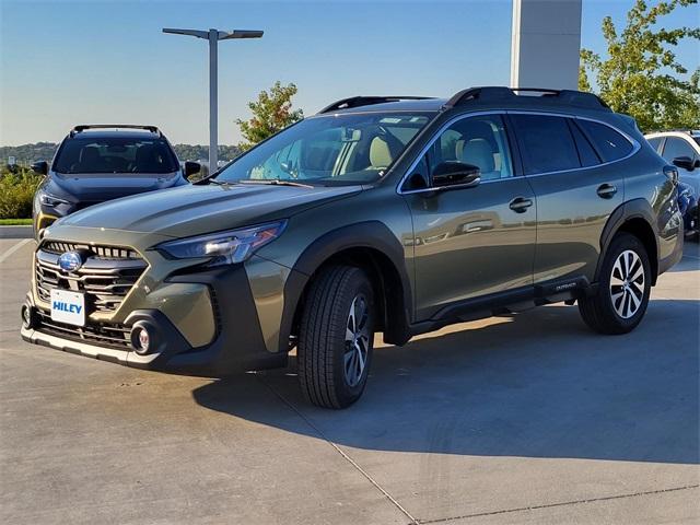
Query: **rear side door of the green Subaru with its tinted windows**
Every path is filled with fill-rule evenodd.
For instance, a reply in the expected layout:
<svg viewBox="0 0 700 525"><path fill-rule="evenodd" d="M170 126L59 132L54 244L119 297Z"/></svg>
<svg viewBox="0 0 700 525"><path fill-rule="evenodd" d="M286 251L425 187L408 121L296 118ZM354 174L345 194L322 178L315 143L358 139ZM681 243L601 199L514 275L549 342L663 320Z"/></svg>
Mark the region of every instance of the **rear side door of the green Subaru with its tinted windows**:
<svg viewBox="0 0 700 525"><path fill-rule="evenodd" d="M615 161L632 143L602 122L561 115L511 113L526 178L537 196L535 284L593 280L600 235L623 202Z"/></svg>

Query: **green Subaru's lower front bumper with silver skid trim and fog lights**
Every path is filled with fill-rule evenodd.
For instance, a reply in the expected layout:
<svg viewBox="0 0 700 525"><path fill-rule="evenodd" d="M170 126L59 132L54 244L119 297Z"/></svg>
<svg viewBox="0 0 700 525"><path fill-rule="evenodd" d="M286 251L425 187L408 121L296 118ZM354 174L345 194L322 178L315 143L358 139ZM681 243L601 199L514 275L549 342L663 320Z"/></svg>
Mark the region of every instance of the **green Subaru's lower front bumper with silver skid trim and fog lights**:
<svg viewBox="0 0 700 525"><path fill-rule="evenodd" d="M200 298L201 294L182 293L189 289L208 291L208 315L200 314L203 310L192 302L192 296ZM145 298L152 299L147 301ZM133 302L129 304L133 305ZM38 316L34 316L32 326L23 327L21 334L28 342L58 350L188 375L222 376L241 370L287 364L287 352L268 351L258 315L259 305L243 265L170 277L141 298L138 306L144 305L149 307L132 310L118 325L126 331L137 323L149 327L152 343L144 354L125 341L122 348L115 348L94 342L80 334L57 332L48 324L42 325ZM32 312L42 308L46 316L46 305L37 305L33 294L27 296L26 306L34 308ZM209 319L205 317L211 318L212 335L197 341L191 336L192 323L206 325ZM110 325L106 323L105 326Z"/></svg>

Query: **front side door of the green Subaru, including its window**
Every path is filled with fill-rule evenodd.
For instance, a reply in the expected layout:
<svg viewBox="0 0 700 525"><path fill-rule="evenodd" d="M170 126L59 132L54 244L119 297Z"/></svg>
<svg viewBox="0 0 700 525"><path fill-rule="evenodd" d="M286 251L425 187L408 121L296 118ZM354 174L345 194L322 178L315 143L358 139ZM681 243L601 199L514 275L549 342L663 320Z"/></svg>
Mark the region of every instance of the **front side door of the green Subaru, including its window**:
<svg viewBox="0 0 700 525"><path fill-rule="evenodd" d="M432 173L444 162L478 166L480 184L431 190ZM471 298L532 285L535 195L514 174L501 115L466 116L450 125L408 182L415 185L402 194L413 220L416 320Z"/></svg>

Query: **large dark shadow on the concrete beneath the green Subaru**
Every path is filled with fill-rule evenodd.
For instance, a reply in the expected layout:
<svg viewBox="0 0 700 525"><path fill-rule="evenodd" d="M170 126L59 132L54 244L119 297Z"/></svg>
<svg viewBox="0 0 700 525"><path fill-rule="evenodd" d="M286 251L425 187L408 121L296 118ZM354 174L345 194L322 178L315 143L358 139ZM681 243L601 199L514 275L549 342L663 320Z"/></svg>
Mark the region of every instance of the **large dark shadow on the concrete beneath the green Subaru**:
<svg viewBox="0 0 700 525"><path fill-rule="evenodd" d="M364 450L698 464L699 317L699 301L660 300L626 336L596 335L563 305L458 325L376 348L364 396L340 411L307 405L293 364L192 395L212 410Z"/></svg>

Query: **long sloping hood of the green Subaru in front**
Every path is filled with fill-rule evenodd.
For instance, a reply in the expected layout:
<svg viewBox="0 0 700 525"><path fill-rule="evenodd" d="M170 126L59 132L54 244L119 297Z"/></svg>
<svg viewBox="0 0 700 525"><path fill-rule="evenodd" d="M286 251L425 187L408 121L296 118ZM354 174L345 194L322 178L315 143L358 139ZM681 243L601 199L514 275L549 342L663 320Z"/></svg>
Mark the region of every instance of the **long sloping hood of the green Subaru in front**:
<svg viewBox="0 0 700 525"><path fill-rule="evenodd" d="M189 185L93 206L68 215L60 224L185 237L288 218L361 189Z"/></svg>

